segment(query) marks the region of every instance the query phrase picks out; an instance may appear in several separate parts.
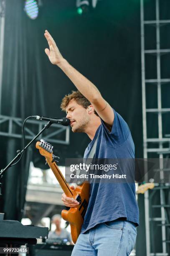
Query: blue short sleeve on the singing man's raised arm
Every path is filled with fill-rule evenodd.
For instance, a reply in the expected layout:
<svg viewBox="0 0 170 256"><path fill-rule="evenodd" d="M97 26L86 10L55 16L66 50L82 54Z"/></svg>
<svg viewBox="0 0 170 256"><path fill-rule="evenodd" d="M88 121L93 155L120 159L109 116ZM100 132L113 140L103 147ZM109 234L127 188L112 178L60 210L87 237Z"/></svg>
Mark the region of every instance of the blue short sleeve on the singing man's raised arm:
<svg viewBox="0 0 170 256"><path fill-rule="evenodd" d="M114 109L114 121L112 125L112 130L109 132L106 124L101 120L102 128L104 132L109 135L110 138L113 138L118 144L124 143L127 140L130 130L127 123L124 121L121 115L119 115Z"/></svg>

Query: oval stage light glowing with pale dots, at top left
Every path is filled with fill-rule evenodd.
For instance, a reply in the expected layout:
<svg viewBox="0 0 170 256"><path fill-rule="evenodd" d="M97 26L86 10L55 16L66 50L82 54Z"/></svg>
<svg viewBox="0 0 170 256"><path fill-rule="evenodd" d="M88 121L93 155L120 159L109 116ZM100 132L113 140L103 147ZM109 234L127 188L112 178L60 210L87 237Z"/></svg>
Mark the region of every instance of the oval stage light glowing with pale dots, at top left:
<svg viewBox="0 0 170 256"><path fill-rule="evenodd" d="M35 20L38 17L38 4L35 0L26 0L24 10L29 18Z"/></svg>

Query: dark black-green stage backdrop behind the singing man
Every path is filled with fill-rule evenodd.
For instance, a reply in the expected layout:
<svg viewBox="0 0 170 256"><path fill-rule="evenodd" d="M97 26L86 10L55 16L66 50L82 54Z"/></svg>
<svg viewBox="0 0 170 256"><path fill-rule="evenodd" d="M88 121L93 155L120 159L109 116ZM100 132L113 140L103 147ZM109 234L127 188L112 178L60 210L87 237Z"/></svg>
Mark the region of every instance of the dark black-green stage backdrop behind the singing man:
<svg viewBox="0 0 170 256"><path fill-rule="evenodd" d="M23 11L23 0L6 1L1 114L23 119L28 115L65 116L61 99L75 87L48 61L43 35L48 29L63 56L127 121L136 157L142 157L140 1L99 1L86 15L77 14L74 0L41 2L38 18L30 20ZM83 156L88 143L85 134L71 133L69 146L54 145L60 164L66 157ZM22 148L22 141L1 137L1 145L3 168ZM41 166L42 158L38 159L32 147L4 176L1 211L6 219L22 218L30 159Z"/></svg>

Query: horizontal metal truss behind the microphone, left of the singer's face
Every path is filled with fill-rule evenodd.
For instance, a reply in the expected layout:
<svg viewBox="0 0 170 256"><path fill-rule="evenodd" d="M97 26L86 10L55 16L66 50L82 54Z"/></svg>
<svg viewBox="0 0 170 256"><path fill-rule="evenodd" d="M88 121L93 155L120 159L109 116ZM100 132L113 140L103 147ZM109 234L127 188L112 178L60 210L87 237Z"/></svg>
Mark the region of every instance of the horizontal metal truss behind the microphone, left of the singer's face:
<svg viewBox="0 0 170 256"><path fill-rule="evenodd" d="M29 128L25 127L25 138L26 139L33 139L42 129L43 126L47 122L44 121L36 121L36 120L27 120L27 124L33 125L33 131L36 130L36 133L31 131ZM22 133L17 133L15 131L21 131L23 125L23 120L21 118L15 118L5 115L0 115L0 136L7 136L12 138L22 138ZM50 143L59 143L64 145L69 145L69 138L70 138L70 129L69 126L63 126L59 124L53 124L51 127L55 128L56 131L49 133L48 135L43 136L43 139L50 142ZM19 128L19 129L18 129ZM55 139L55 136L60 134L63 136L65 133L64 140Z"/></svg>

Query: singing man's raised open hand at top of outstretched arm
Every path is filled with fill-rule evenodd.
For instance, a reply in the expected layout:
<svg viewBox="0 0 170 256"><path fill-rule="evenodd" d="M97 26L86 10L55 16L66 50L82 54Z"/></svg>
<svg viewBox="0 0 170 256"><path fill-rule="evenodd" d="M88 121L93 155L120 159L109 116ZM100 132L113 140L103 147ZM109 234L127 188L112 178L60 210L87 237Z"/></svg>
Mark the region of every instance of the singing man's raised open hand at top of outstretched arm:
<svg viewBox="0 0 170 256"><path fill-rule="evenodd" d="M63 60L63 56L58 50L58 47L56 46L54 39L52 38L52 36L47 30L45 31L44 36L46 37L49 48L50 48L50 49L46 48L45 53L47 54L52 64L58 65Z"/></svg>

